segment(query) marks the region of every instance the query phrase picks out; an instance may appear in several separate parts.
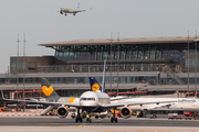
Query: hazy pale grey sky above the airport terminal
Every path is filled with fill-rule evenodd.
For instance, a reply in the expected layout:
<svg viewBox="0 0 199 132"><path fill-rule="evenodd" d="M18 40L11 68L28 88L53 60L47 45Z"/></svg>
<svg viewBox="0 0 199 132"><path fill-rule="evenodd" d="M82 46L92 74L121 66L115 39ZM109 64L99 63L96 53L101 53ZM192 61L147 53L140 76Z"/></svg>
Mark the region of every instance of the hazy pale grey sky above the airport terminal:
<svg viewBox="0 0 199 132"><path fill-rule="evenodd" d="M92 10L75 16L61 15L61 7ZM10 56L20 55L27 34L28 56L54 55L40 43L195 35L199 30L199 0L0 0L0 73L6 73Z"/></svg>

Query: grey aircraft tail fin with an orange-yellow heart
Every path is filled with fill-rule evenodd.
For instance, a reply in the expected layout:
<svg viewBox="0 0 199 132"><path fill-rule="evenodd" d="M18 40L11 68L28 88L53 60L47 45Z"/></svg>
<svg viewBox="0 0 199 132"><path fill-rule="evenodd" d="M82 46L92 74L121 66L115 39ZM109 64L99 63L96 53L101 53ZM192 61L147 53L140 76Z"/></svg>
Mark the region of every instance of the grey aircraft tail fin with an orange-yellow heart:
<svg viewBox="0 0 199 132"><path fill-rule="evenodd" d="M48 100L57 100L60 98L54 88L45 78L41 79L41 86L44 98L46 98Z"/></svg>

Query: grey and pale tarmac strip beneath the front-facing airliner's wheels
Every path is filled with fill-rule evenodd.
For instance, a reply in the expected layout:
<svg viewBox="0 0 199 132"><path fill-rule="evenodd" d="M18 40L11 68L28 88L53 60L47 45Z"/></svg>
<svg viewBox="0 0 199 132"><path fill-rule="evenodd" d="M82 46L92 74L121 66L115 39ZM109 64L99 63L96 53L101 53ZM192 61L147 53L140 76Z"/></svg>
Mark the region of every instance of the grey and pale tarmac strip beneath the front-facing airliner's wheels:
<svg viewBox="0 0 199 132"><path fill-rule="evenodd" d="M199 132L199 120L168 120L144 118L94 119L92 123L76 123L72 118L0 117L0 131L6 132Z"/></svg>

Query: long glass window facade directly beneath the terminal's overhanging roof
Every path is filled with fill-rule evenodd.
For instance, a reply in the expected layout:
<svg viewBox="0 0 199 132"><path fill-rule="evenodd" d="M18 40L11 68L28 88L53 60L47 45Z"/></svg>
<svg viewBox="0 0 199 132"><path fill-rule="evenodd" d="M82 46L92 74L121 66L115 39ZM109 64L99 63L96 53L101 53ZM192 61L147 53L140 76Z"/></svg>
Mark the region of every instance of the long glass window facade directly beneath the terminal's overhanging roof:
<svg viewBox="0 0 199 132"><path fill-rule="evenodd" d="M195 46L190 44L190 52ZM138 59L170 59L185 65L186 43L174 44L116 44L112 45L74 45L57 46L55 57L67 61L138 61Z"/></svg>

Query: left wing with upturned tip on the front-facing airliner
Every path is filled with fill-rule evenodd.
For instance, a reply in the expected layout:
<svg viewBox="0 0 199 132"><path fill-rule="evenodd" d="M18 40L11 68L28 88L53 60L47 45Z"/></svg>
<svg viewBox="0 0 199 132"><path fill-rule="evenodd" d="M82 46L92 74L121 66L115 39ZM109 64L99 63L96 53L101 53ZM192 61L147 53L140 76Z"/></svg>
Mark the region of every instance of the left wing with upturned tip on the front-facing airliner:
<svg viewBox="0 0 199 132"><path fill-rule="evenodd" d="M53 106L69 106L69 107L80 107L80 103L63 103L63 102L53 102L53 101L38 101L38 100L23 100L23 99L6 99L3 96L3 91L1 89L2 99L4 101L12 101L12 102L32 102L39 105L53 105Z"/></svg>

